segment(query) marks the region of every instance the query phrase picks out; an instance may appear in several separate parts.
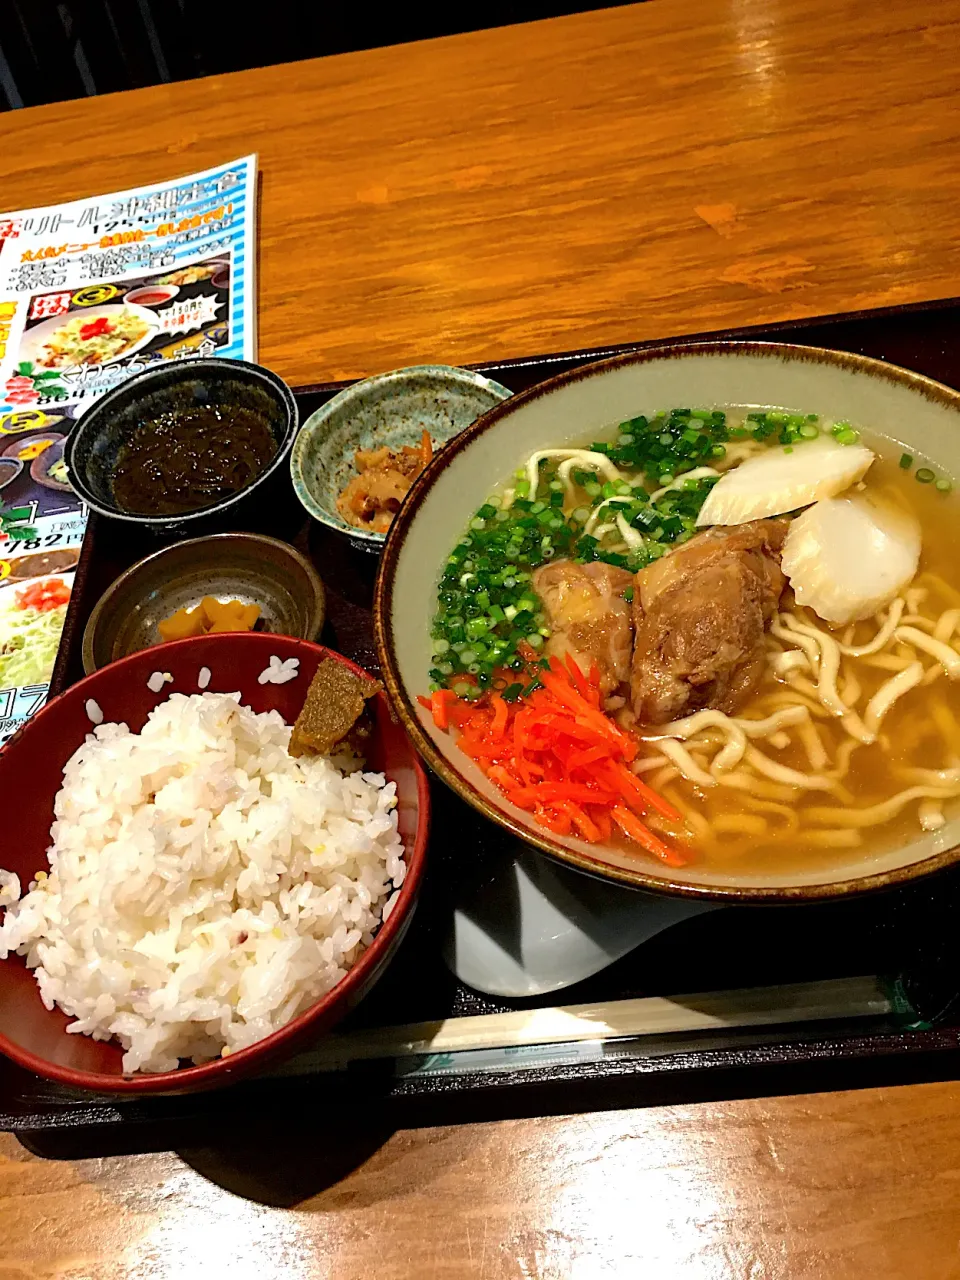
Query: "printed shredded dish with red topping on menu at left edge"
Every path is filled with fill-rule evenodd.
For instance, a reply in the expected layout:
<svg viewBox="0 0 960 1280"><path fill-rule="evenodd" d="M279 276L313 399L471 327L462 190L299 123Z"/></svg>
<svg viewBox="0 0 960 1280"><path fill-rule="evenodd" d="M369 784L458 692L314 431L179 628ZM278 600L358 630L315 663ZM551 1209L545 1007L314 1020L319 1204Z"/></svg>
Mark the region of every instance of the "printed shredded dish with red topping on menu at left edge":
<svg viewBox="0 0 960 1280"><path fill-rule="evenodd" d="M60 577L0 591L0 689L50 680L69 602L70 588Z"/></svg>

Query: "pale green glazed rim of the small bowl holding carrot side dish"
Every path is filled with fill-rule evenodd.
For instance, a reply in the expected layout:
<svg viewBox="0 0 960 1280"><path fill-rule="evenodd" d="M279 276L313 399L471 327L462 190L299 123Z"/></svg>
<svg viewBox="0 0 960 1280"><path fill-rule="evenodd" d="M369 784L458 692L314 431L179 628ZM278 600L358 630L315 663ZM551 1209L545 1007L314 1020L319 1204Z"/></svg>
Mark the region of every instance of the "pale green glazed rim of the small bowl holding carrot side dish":
<svg viewBox="0 0 960 1280"><path fill-rule="evenodd" d="M460 431L466 431L476 419L483 417L495 404L513 396L513 392L508 390L500 383L486 378L484 374L474 372L470 369L458 369L454 365L410 365L406 369L396 369L389 374L375 374L372 378L365 378L358 383L353 383L351 387L338 392L337 396L316 410L316 412L311 413L297 433L291 452L293 489L303 508L317 524L325 525L334 532L346 535L356 545L379 550L383 547L387 534L375 534L366 529L356 529L353 525L348 525L346 520L342 520L335 511L332 511L328 506L317 500L305 475L303 462L307 448L317 435L329 431L332 424L344 416L352 406L362 404L371 392L380 392L383 388L389 388L390 385L403 385L416 380L434 383L438 390L443 390L444 388L470 390L472 388L494 397L492 403L477 408L476 415L468 422L463 422L460 430L452 433L447 440L443 440L443 444L448 443L449 439L454 439Z"/></svg>

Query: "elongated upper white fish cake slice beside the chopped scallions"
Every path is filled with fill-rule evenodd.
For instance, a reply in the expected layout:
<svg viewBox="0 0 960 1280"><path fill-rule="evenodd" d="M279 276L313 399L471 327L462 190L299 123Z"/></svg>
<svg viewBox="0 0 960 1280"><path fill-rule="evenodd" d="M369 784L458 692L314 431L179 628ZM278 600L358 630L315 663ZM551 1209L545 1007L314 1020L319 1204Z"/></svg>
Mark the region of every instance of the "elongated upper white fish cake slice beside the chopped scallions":
<svg viewBox="0 0 960 1280"><path fill-rule="evenodd" d="M764 449L722 475L696 517L698 525L745 525L832 498L863 479L874 454L832 435Z"/></svg>

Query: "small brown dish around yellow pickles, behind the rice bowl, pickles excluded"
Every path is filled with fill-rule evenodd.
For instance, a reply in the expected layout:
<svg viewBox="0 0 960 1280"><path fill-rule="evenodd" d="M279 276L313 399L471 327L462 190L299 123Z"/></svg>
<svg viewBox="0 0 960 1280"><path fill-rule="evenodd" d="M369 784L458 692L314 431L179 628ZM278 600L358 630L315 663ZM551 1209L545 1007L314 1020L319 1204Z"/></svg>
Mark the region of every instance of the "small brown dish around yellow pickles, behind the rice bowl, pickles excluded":
<svg viewBox="0 0 960 1280"><path fill-rule="evenodd" d="M83 669L163 644L157 623L205 595L257 604L257 630L271 635L315 640L324 625L324 584L287 543L259 534L192 538L138 561L100 596L83 631Z"/></svg>

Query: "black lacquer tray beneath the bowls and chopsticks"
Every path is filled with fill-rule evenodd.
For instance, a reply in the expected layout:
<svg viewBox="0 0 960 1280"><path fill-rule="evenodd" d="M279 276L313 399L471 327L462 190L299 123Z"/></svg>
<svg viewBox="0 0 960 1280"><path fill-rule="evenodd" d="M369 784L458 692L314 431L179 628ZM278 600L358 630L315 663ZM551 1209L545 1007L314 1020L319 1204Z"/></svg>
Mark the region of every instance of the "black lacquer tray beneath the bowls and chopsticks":
<svg viewBox="0 0 960 1280"><path fill-rule="evenodd" d="M957 300L684 340L716 338L861 352L960 387ZM649 346L655 343L477 367L522 390L556 372ZM301 420L340 385L301 389ZM259 517L260 529L289 539L312 557L328 589L324 643L375 669L370 630L375 561L302 516L292 490L283 492ZM100 593L156 545L152 538L132 540L125 530L118 535L108 521L91 521L55 687L82 675L79 641ZM215 1140L234 1129L238 1116L269 1116L280 1094L284 1108L297 1105L305 1124L320 1124L330 1111L340 1110L339 1098L346 1114L362 1101L371 1125L410 1125L945 1079L957 1073L960 872L850 902L724 908L654 937L577 987L509 1002L463 987L442 959L452 887L466 865L495 854L503 837L439 783L434 785L434 805L429 873L415 920L379 986L344 1025L348 1037L375 1041L383 1028L440 1024L509 1009L736 988L762 988L762 998L776 1010L777 992L790 983L820 984L824 1016L799 1023L785 1014L782 1021L774 1015L759 1027L622 1036L549 1048L506 1046L472 1055L404 1055L390 1048L387 1034L383 1053L349 1060L344 1050L347 1060L339 1065L328 1061L321 1069L306 1060L294 1074L280 1078L142 1102L79 1096L0 1061L0 1129L15 1132L40 1153L77 1156ZM868 987L884 993L877 1009L845 1015L842 980L849 978L864 978ZM349 1043L348 1038L344 1044Z"/></svg>

